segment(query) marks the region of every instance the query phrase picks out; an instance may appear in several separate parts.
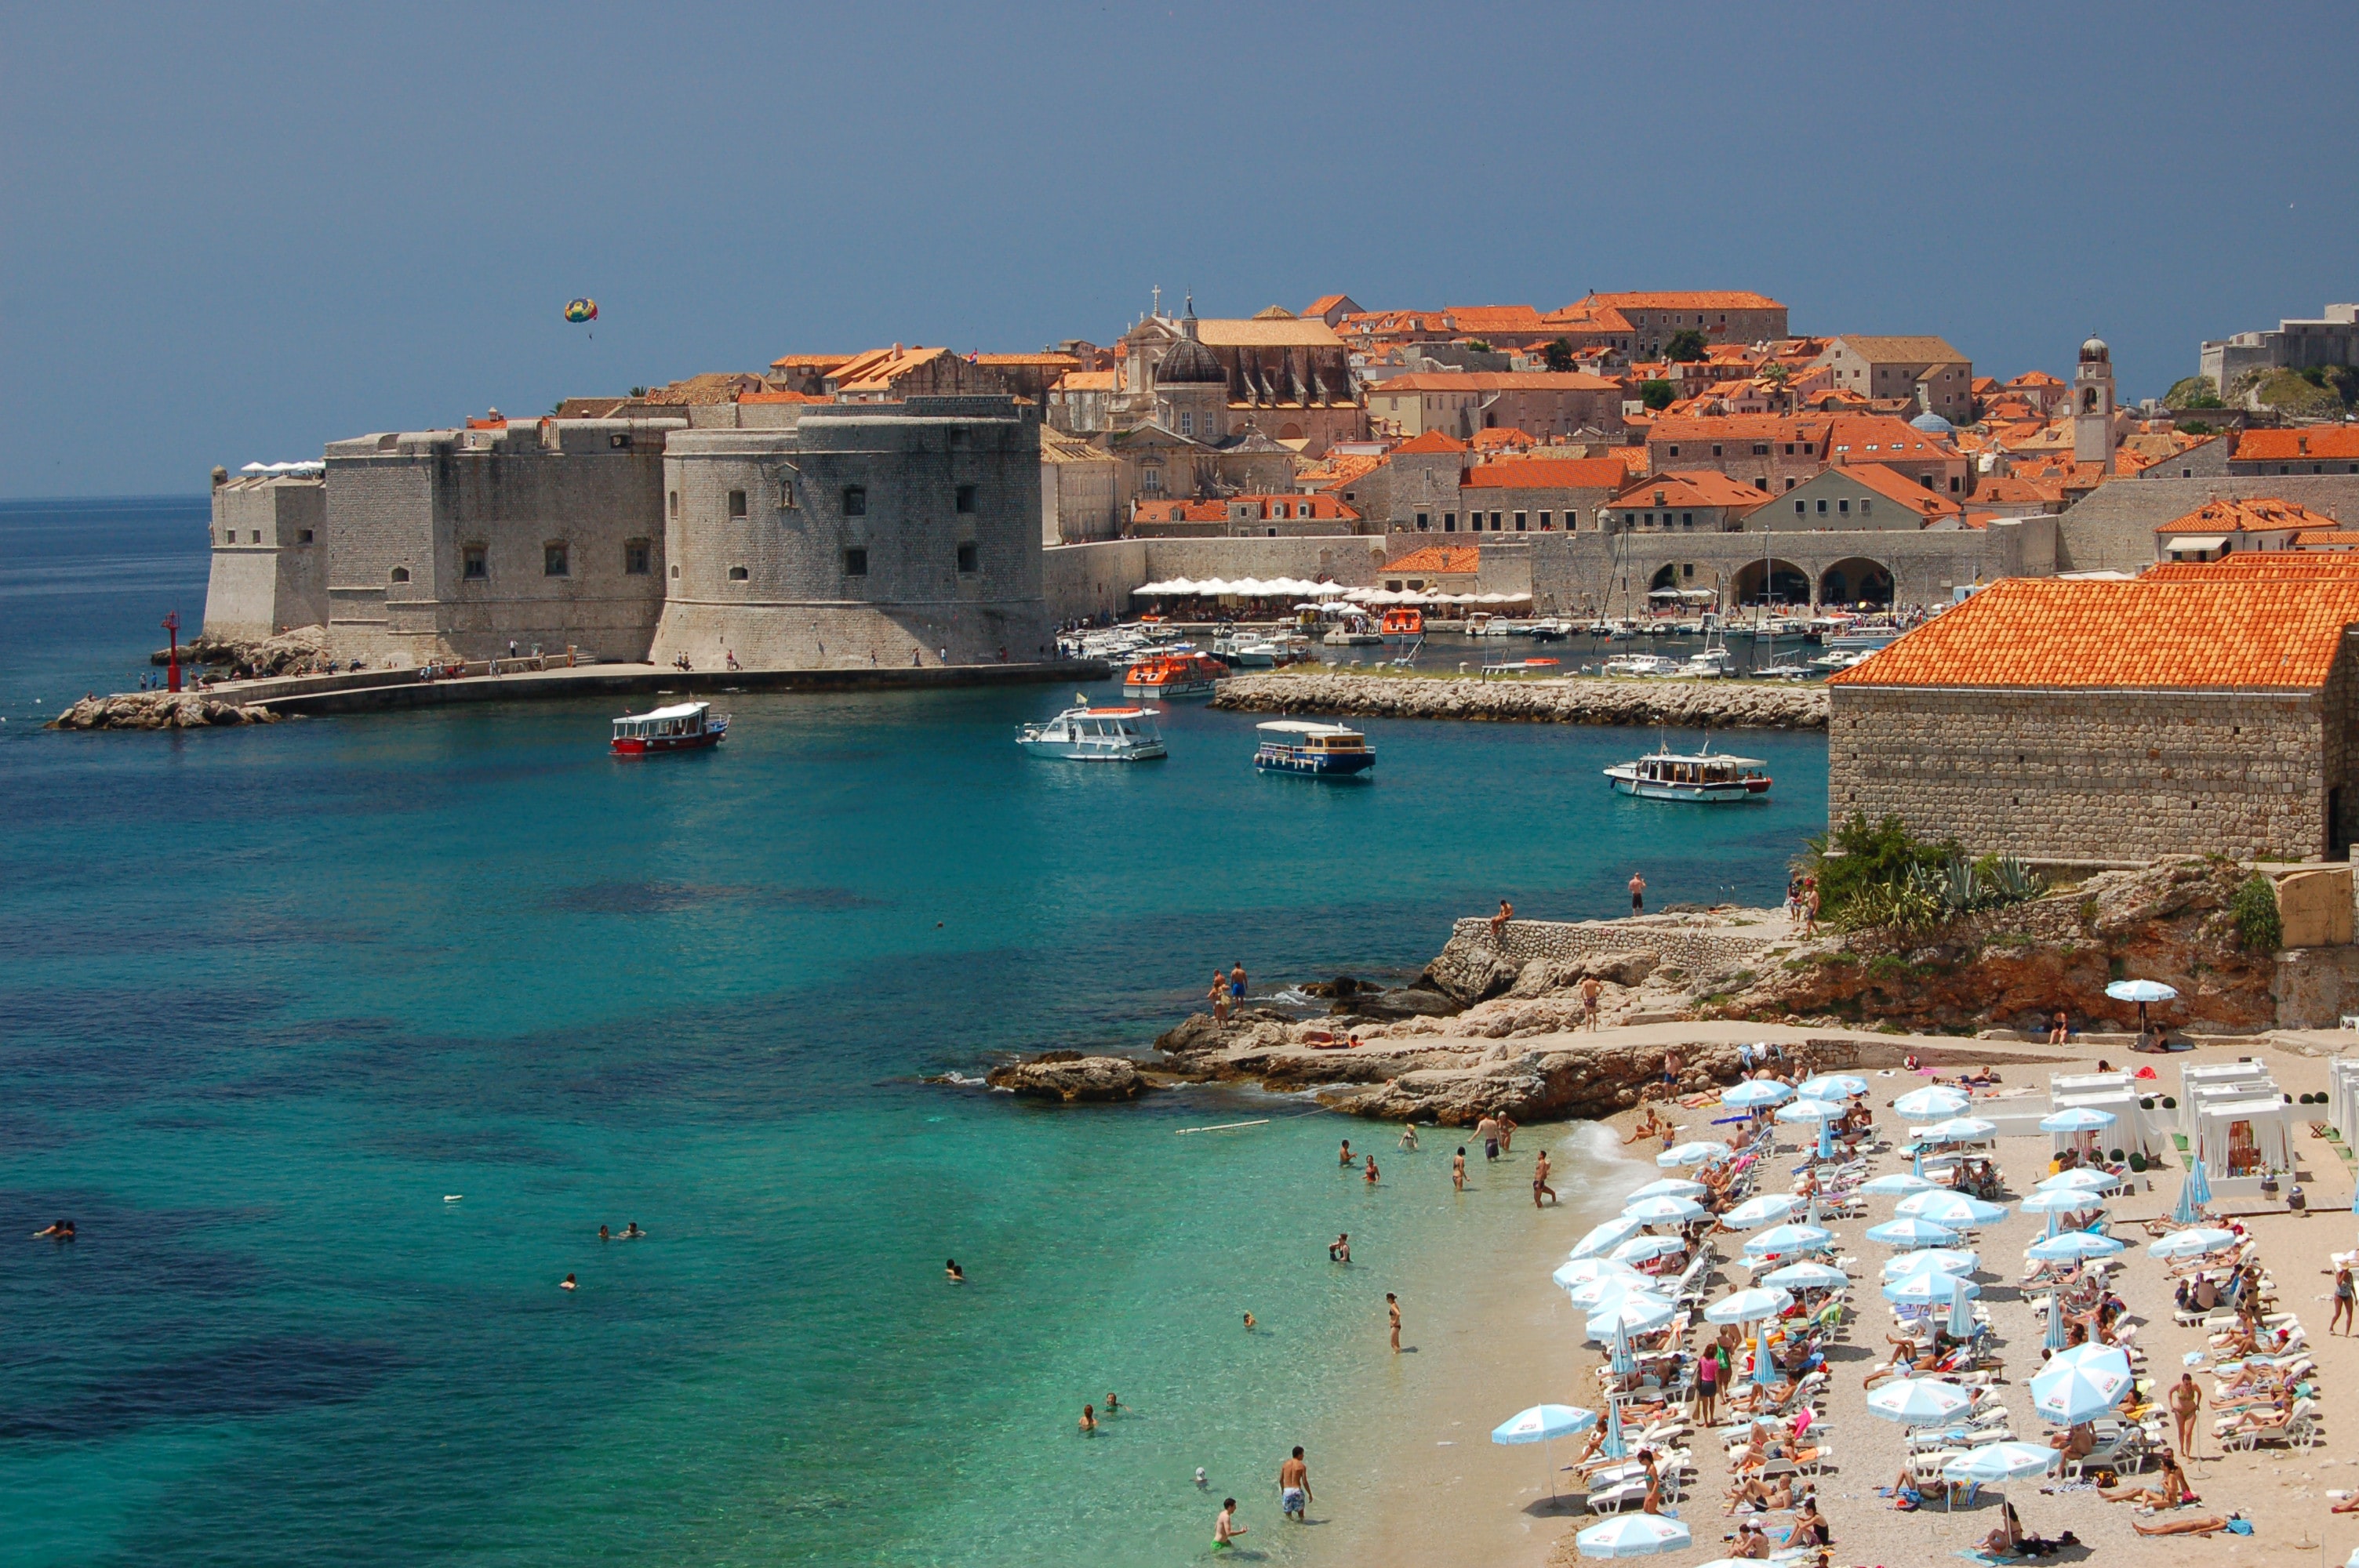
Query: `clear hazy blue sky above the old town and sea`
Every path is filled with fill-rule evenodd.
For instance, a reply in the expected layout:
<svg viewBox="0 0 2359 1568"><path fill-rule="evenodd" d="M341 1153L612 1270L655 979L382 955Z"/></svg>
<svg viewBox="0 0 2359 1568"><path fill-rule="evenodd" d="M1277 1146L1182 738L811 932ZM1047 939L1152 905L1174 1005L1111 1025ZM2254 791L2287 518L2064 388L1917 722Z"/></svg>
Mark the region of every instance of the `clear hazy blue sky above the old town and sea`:
<svg viewBox="0 0 2359 1568"><path fill-rule="evenodd" d="M0 0L0 498L889 342L1750 288L2125 398L2359 299L2347 5ZM566 299L599 304L566 325Z"/></svg>

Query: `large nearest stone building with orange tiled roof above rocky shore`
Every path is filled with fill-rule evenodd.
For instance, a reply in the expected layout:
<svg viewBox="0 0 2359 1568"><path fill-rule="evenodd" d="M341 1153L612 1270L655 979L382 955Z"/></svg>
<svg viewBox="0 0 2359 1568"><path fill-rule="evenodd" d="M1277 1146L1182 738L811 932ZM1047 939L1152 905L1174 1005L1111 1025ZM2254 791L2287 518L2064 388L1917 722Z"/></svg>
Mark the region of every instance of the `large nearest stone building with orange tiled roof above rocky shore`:
<svg viewBox="0 0 2359 1568"><path fill-rule="evenodd" d="M1998 582L1833 674L1828 818L2050 863L2342 858L2359 571L2241 561Z"/></svg>

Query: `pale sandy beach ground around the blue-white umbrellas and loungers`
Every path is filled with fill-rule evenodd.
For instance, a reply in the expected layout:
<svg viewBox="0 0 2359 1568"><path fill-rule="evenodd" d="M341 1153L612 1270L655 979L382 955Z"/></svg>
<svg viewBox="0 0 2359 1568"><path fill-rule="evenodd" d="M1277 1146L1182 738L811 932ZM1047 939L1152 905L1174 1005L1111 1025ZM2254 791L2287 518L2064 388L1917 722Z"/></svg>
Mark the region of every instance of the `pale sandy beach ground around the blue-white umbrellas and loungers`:
<svg viewBox="0 0 2359 1568"><path fill-rule="evenodd" d="M1762 1030L1765 1035L1774 1030ZM1609 1030L1611 1035L1611 1030ZM1904 1040L1894 1040L1906 1045ZM2279 1087L2291 1094L2326 1087L2321 1054L2335 1049L2333 1035L2274 1035L2253 1040L2206 1042L2194 1052L2170 1056L2125 1056L2121 1042L2074 1042L2069 1047L2012 1045L1958 1037L1927 1037L1925 1047L1937 1047L1944 1061L1989 1061L2003 1078L2003 1089L2029 1089L2029 1099L2045 1106L2050 1073L2095 1070L2100 1059L2114 1066L2156 1066L2158 1089L2177 1089L2177 1070L2201 1061L2234 1061L2236 1056L2260 1059ZM2057 1061L2059 1056L2069 1061ZM1953 1070L1953 1068L1951 1068ZM1908 1089L1923 1087L1927 1078L1897 1068L1871 1068L1871 1106L1878 1113L1878 1134L1901 1127L1901 1118L1887 1111L1887 1101ZM1583 1313L1564 1292L1550 1283L1550 1271L1564 1259L1571 1243L1599 1219L1621 1207L1621 1195L1651 1179L1651 1144L1628 1151L1621 1139L1635 1113L1609 1122L1573 1122L1555 1127L1526 1127L1517 1134L1517 1146L1498 1167L1484 1167L1481 1146L1460 1129L1422 1129L1427 1155L1418 1177L1448 1181L1446 1148L1460 1141L1472 1146L1470 1170L1479 1191L1467 1193L1470 1205L1517 1207L1517 1221L1489 1217L1493 1238L1479 1254L1430 1259L1422 1278L1404 1292L1411 1332L1404 1344L1415 1346L1413 1356L1401 1356L1380 1370L1382 1386L1373 1389L1371 1408L1385 1415L1371 1431L1366 1448L1349 1455L1349 1469L1364 1471L1366 1485L1354 1485L1361 1497L1361 1516L1338 1518L1333 1535L1316 1547L1316 1561L1479 1561L1500 1566L1573 1563L1571 1535L1595 1523L1581 1509L1578 1490L1550 1504L1550 1471L1538 1448L1503 1448L1489 1441L1491 1427L1533 1403L1571 1403L1597 1408L1597 1379L1592 1368L1602 1356L1581 1342ZM1713 1120L1713 1111L1682 1111L1677 1118L1689 1134ZM1996 1162L2012 1198L2022 1198L2048 1174L2048 1137L2003 1137L1996 1144ZM1446 1146L1446 1148L1444 1148ZM1531 1158L1538 1146L1550 1148L1555 1160L1555 1186L1562 1207L1531 1210ZM1444 1158L1434 1160L1432 1151ZM1640 1153L1644 1151L1644 1153ZM2300 1549L2305 1559L2324 1551L2324 1561L2338 1563L2359 1544L2359 1514L2331 1516L2328 1490L2359 1490L2359 1464L2352 1457L2352 1438L2331 1419L2335 1398L2359 1386L2359 1342L2328 1337L2328 1252L2354 1245L2352 1174L2335 1146L2307 1129L2307 1118L2298 1122L2295 1151L2300 1158L2300 1181L2309 1198L2309 1214L2288 1214L2281 1207L2265 1214L2241 1214L2232 1210L2258 1238L2260 1259L2276 1280L2276 1309L2295 1311L2309 1335L2309 1351L2317 1358L2317 1375L2326 1391L2328 1424L2326 1441L2317 1448L2260 1448L2255 1452L2220 1455L2210 1438L2210 1412L2203 1417L2203 1441L2187 1462L2187 1478L2201 1495L2201 1504L2184 1509L2194 1514L2243 1511L2255 1521L2250 1537L2215 1535L2199 1551L2243 1554L2246 1561L2272 1559L2284 1549ZM1774 1177L1757 1191L1781 1191L1786 1186L1783 1160ZM1875 1158L1875 1172L1906 1170L1897 1153ZM2182 1368L2182 1353L2203 1346L2203 1332L2177 1327L2170 1318L2170 1280L2158 1259L2147 1257L2147 1233L2137 1224L2168 1214L2177 1200L2182 1172L2177 1167L2142 1177L2133 1188L2118 1193L2111 1217L2121 1240L2130 1250L2118 1257L2116 1292L2128 1302L2128 1323L2137 1323L2137 1344L2147 1361L2142 1377L2168 1384ZM1833 1528L1831 1561L1842 1563L1918 1563L1965 1554L1998 1521L2000 1493L1984 1488L1972 1507L1944 1511L1927 1507L1920 1511L1894 1511L1878 1495L1899 1471L1906 1455L1906 1429L1868 1415L1861 1377L1887 1353L1885 1335L1894 1323L1887 1304L1878 1297L1878 1269L1890 1250L1866 1243L1861 1231L1890 1219L1890 1198L1871 1198L1864 1219L1831 1221L1838 1233L1835 1257L1847 1259L1854 1276L1852 1304L1854 1325L1842 1344L1831 1353L1831 1384L1821 1403L1828 1443L1835 1462L1819 1483L1819 1504ZM1491 1226L1486 1226L1491 1228ZM2017 1441L2043 1441L2045 1424L2031 1410L2024 1384L2038 1370L2041 1320L2033 1311L2038 1292L2017 1290L2022 1273L2022 1250L2043 1231L2036 1214L2010 1212L2005 1221L1982 1231L1984 1257L1982 1304L1989 1311L2003 1356L2003 1398L2010 1408ZM1720 1236L1722 1257L1736 1252L1739 1238ZM1713 1297L1743 1283L1741 1271L1722 1271ZM1378 1339L1380 1349L1380 1339ZM1389 1361L1389 1358L1387 1358ZM2210 1361L2199 1368L2199 1384L2210 1396ZM1578 1438L1576 1438L1578 1443ZM1665 1568L1684 1568L1729 1551L1724 1533L1734 1530L1734 1518L1722 1511L1727 1488L1727 1464L1720 1445L1703 1438L1691 1443L1696 1476L1675 1511L1694 1530L1694 1544L1680 1554L1663 1554ZM1571 1460L1571 1445L1555 1445L1557 1467ZM2144 1474L2151 1481L2154 1471ZM1359 1481L1359 1476L1354 1476ZM1559 1485L1571 1483L1569 1474L1557 1476ZM2137 1481L2133 1481L2137 1483ZM2109 1563L2166 1563L2184 1559L2189 1544L2180 1537L2140 1537L2130 1526L2142 1518L2133 1504L2109 1504L2092 1488L2071 1485L2059 1478L2019 1481L2005 1495L2015 1500L2029 1533L2050 1540L2071 1530L2081 1547L2057 1554L2074 1561L2102 1554ZM2168 1516L2158 1516L2168 1518ZM1772 1518L1776 1523L1776 1518ZM2154 1523L2154 1518L2147 1518Z"/></svg>

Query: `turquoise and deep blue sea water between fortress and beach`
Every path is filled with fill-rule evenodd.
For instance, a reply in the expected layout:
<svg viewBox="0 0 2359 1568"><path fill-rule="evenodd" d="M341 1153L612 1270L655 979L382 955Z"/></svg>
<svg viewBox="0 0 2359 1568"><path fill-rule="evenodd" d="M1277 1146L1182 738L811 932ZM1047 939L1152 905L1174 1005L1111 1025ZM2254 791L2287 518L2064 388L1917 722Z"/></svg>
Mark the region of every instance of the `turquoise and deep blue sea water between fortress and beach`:
<svg viewBox="0 0 2359 1568"><path fill-rule="evenodd" d="M1198 1464L1316 1554L1276 1460L1354 1450L1387 1280L1522 1198L1389 1139L1340 1179L1375 1129L1297 1101L920 1078L1144 1045L1231 960L1411 971L1503 894L1774 898L1824 821L1816 736L1677 811L1597 780L1647 736L1550 726L1371 724L1338 788L1182 707L1165 764L1059 766L1010 745L1043 689L741 696L656 764L602 705L35 729L203 573L201 502L0 507L12 1566L1168 1563Z"/></svg>

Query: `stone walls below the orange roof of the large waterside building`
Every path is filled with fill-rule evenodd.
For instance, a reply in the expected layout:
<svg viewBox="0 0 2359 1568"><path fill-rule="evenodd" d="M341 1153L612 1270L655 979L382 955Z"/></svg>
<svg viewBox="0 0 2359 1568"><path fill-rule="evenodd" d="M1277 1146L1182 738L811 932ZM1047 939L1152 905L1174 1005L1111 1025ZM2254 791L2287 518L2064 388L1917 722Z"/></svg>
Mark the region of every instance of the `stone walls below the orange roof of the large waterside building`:
<svg viewBox="0 0 2359 1568"><path fill-rule="evenodd" d="M2333 693L1833 686L1828 821L2026 861L2314 858L2347 778L2350 655Z"/></svg>

